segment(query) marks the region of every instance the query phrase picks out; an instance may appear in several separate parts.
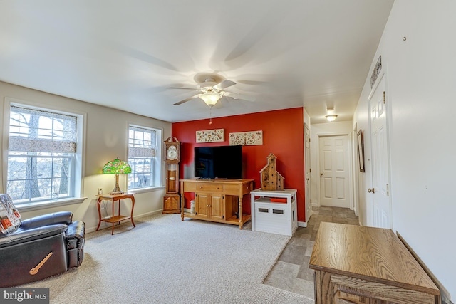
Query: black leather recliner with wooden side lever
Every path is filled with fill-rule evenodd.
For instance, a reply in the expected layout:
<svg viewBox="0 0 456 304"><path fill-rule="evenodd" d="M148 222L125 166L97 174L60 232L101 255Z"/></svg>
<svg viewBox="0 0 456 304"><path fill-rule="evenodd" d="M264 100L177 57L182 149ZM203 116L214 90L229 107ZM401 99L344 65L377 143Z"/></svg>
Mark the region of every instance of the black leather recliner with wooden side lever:
<svg viewBox="0 0 456 304"><path fill-rule="evenodd" d="M26 219L0 235L0 287L38 281L81 266L86 224L69 211Z"/></svg>

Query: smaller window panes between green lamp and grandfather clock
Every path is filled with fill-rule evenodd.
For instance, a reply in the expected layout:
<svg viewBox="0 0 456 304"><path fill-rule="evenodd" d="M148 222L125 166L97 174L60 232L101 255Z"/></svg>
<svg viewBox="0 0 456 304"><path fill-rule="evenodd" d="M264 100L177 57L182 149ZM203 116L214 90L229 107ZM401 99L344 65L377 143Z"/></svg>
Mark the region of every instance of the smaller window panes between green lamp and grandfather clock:
<svg viewBox="0 0 456 304"><path fill-rule="evenodd" d="M156 157L160 130L130 125L128 128L128 189L160 186L160 159Z"/></svg>

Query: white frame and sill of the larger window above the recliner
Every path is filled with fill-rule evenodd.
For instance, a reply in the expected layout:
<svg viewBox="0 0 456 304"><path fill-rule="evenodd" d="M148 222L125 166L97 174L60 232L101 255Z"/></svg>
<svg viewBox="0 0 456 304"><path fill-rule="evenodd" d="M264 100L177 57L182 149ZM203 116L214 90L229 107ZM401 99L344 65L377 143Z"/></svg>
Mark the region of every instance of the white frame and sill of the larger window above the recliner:
<svg viewBox="0 0 456 304"><path fill-rule="evenodd" d="M8 182L8 158L9 158L9 117L11 105L18 107L31 108L35 110L43 110L48 112L56 112L63 115L73 115L77 117L77 128L78 128L78 138L76 145L76 153L74 157L74 172L73 172L73 185L71 188L72 196L65 199L51 199L46 201L29 201L27 203L15 204L19 211L33 211L38 209L48 209L56 206L65 206L68 204L81 204L86 197L82 197L82 177L83 177L83 147L86 145L86 112L77 112L75 110L68 110L64 108L58 108L51 105L43 105L38 103L33 103L26 100L19 100L16 98L5 98L4 102L4 132L3 132L3 142L2 142L2 160L3 160L3 172L2 172L2 187L6 189L6 184ZM4 192L4 191L2 191Z"/></svg>

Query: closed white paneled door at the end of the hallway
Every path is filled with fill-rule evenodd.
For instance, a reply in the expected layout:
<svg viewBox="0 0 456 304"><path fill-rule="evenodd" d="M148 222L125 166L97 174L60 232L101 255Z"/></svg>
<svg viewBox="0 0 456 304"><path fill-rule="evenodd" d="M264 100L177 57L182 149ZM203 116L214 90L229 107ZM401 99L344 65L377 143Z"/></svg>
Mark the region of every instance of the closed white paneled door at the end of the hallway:
<svg viewBox="0 0 456 304"><path fill-rule="evenodd" d="M320 137L322 206L350 208L348 135Z"/></svg>

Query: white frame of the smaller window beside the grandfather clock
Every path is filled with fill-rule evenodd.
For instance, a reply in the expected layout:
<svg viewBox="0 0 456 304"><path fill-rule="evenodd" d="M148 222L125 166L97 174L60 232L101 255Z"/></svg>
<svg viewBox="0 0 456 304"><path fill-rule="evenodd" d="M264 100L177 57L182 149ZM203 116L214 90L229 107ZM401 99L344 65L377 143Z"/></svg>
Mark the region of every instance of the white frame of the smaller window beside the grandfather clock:
<svg viewBox="0 0 456 304"><path fill-rule="evenodd" d="M155 132L155 157L152 157L152 186L150 187L127 187L128 190L134 192L147 192L153 189L162 188L162 130L156 127L148 127L145 125L138 125L134 123L128 123L128 136L127 136L127 147L130 149L130 127L143 129L143 130L150 130ZM128 152L127 159L130 159L130 152ZM132 167L133 170L133 167Z"/></svg>

